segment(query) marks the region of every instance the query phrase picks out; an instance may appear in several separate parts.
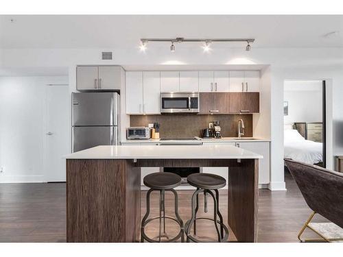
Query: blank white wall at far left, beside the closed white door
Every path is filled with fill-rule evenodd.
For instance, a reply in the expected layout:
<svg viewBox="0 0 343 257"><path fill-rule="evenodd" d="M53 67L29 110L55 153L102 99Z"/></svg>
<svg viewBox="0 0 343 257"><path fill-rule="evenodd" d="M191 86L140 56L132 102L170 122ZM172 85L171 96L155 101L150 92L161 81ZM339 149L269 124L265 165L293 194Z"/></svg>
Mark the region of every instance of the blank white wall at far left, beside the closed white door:
<svg viewBox="0 0 343 257"><path fill-rule="evenodd" d="M68 77L0 77L0 182L42 182L45 86Z"/></svg>

